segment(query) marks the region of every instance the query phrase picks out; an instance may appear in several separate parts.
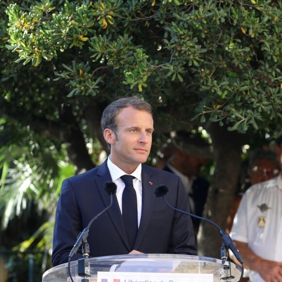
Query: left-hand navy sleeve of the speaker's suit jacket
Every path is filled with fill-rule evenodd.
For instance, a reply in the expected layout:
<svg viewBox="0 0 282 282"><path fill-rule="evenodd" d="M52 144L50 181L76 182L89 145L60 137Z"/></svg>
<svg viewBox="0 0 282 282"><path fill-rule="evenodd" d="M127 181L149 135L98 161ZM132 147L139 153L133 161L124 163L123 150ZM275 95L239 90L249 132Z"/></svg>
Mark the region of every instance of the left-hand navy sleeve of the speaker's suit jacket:
<svg viewBox="0 0 282 282"><path fill-rule="evenodd" d="M53 266L68 262L70 251L82 230L81 214L78 209L71 182L66 179L62 183L61 195L57 204L53 232ZM81 253L72 260L82 258Z"/></svg>

